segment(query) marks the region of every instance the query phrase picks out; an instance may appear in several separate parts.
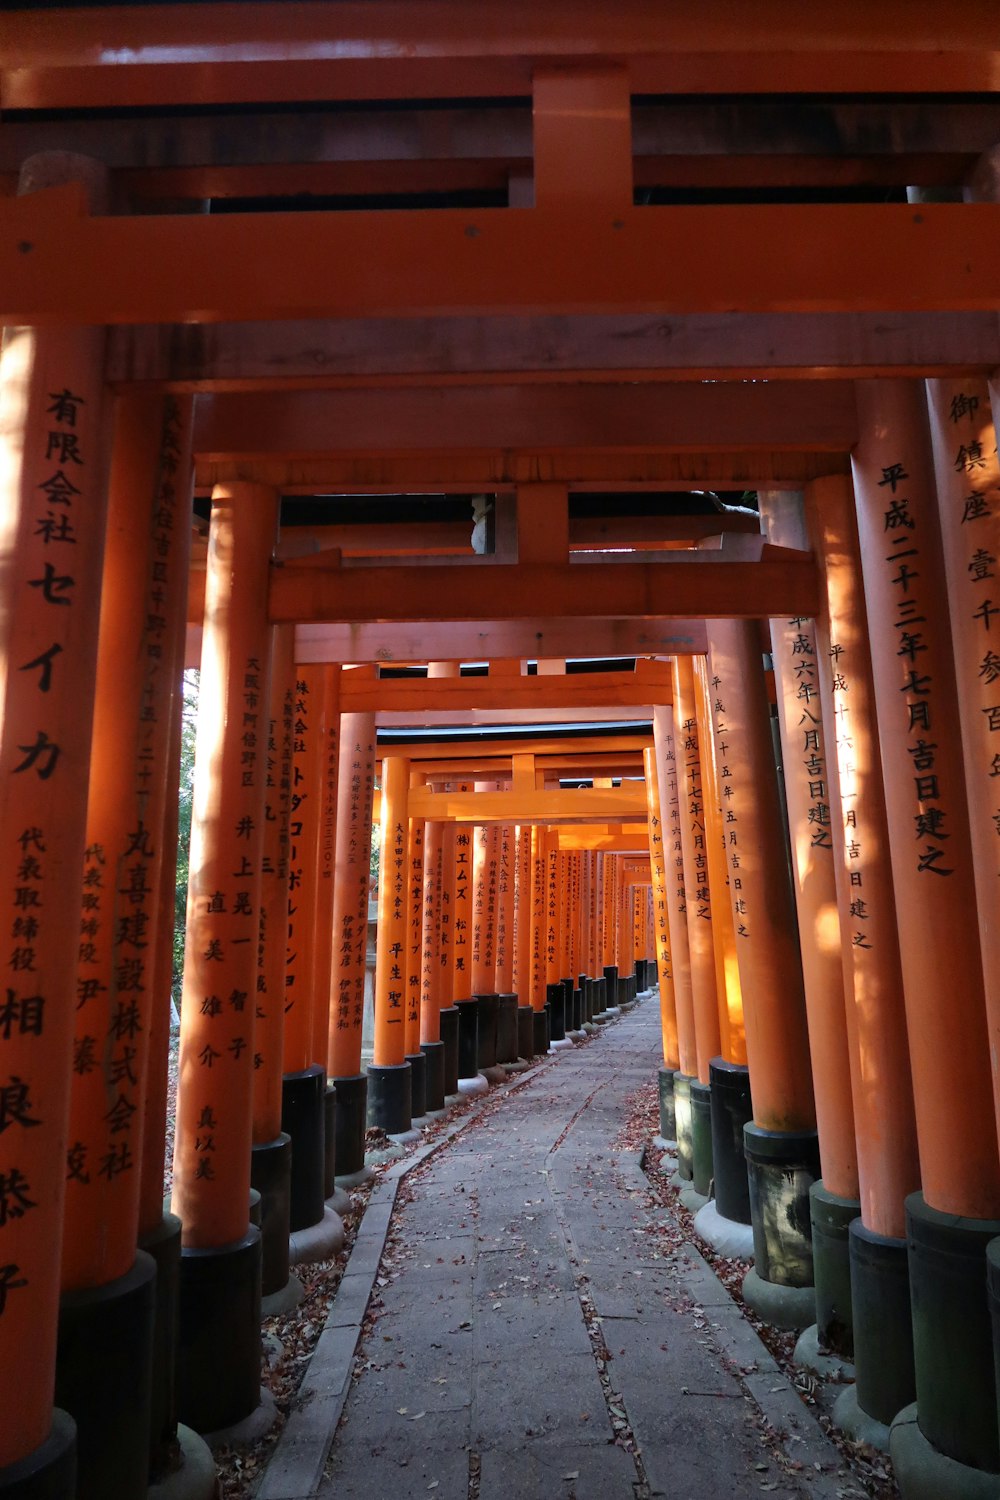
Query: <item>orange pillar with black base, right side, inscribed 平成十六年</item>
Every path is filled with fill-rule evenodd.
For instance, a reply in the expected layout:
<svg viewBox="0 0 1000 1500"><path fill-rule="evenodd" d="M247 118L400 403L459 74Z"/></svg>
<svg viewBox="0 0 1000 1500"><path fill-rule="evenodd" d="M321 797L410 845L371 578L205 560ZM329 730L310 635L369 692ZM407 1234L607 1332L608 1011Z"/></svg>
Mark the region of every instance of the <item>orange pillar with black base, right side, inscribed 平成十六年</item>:
<svg viewBox="0 0 1000 1500"><path fill-rule="evenodd" d="M807 514L823 578L816 663L823 720L832 726L834 741L826 748L826 772L861 1198L861 1216L849 1228L858 1380L838 1396L835 1412L838 1425L850 1434L871 1436L871 1424L882 1424L876 1434L885 1448L888 1424L913 1398L904 1202L921 1174L850 482L831 476L811 483ZM811 738L810 753L819 753L822 744L819 736Z"/></svg>

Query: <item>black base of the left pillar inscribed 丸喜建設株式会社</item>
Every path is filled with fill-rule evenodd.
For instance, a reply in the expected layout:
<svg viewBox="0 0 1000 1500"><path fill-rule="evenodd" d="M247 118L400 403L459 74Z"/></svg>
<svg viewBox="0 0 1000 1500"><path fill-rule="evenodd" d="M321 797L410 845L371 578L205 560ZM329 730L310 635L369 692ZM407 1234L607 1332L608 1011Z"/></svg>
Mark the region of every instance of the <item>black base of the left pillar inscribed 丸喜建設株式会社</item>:
<svg viewBox="0 0 1000 1500"><path fill-rule="evenodd" d="M156 1262L142 1250L123 1276L60 1299L55 1404L76 1424L79 1500L145 1500L154 1328Z"/></svg>

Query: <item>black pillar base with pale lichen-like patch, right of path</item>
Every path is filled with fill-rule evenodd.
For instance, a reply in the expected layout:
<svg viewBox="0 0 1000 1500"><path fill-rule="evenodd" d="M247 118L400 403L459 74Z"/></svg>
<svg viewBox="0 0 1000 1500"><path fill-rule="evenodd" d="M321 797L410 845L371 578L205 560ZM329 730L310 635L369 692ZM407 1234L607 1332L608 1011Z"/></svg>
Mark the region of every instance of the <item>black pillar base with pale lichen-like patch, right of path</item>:
<svg viewBox="0 0 1000 1500"><path fill-rule="evenodd" d="M783 1287L813 1286L810 1188L820 1176L816 1131L744 1125L754 1270ZM811 1322L811 1320L810 1320Z"/></svg>

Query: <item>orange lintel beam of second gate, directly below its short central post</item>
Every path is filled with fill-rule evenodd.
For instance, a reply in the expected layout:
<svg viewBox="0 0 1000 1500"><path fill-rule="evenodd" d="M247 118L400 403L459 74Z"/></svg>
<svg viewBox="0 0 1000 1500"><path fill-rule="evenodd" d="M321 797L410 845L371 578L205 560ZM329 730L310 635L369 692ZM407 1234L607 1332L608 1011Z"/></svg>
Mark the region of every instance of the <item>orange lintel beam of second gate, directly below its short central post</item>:
<svg viewBox="0 0 1000 1500"><path fill-rule="evenodd" d="M364 620L522 620L540 600L553 615L657 620L664 614L706 620L816 615L811 560L760 562L490 564L412 568L340 568L292 562L271 570L273 624Z"/></svg>

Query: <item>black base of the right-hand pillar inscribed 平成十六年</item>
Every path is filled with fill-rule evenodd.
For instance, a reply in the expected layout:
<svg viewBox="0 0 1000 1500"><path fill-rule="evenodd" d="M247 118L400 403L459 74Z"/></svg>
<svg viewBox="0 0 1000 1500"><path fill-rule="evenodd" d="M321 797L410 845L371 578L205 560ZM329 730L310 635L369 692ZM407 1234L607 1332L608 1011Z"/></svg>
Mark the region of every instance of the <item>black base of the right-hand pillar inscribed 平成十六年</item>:
<svg viewBox="0 0 1000 1500"><path fill-rule="evenodd" d="M847 1232L859 1413L886 1428L916 1398L910 1268L904 1239L876 1234L859 1218ZM834 1408L841 1425L841 1398ZM844 1424L850 1432L852 1428Z"/></svg>

